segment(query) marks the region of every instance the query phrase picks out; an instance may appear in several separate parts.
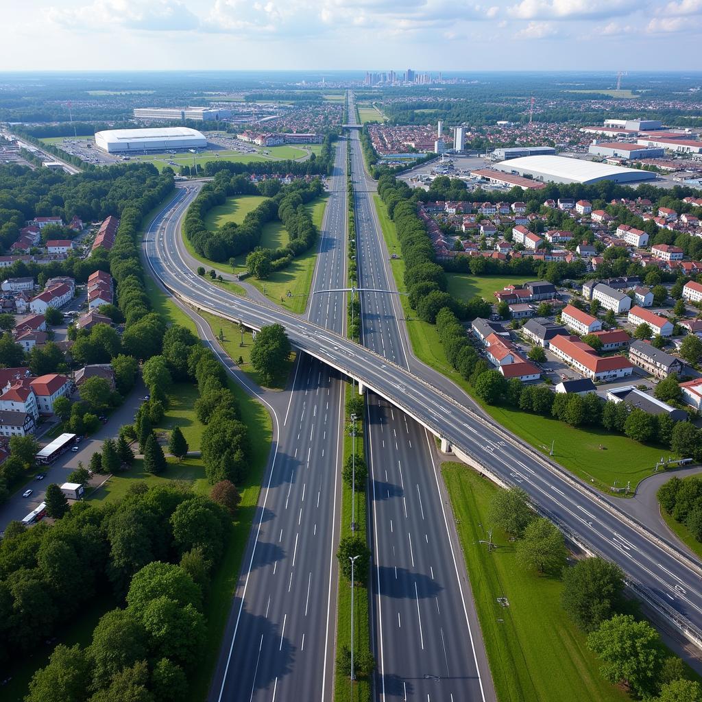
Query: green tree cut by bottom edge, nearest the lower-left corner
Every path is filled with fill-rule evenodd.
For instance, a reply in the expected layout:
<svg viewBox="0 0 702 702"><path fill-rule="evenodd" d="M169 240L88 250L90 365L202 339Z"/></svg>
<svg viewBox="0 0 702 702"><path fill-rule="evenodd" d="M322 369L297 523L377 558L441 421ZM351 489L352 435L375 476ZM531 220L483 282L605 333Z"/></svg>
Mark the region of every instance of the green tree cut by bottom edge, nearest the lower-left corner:
<svg viewBox="0 0 702 702"><path fill-rule="evenodd" d="M84 702L88 698L90 663L79 644L67 647L58 644L48 665L34 673L29 683L27 702Z"/></svg>

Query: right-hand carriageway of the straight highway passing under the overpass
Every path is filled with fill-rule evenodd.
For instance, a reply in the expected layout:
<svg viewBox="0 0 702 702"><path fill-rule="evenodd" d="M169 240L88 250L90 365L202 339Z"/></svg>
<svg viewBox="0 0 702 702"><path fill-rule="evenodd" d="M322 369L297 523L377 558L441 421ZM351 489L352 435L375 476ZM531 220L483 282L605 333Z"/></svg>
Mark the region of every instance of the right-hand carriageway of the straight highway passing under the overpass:
<svg viewBox="0 0 702 702"><path fill-rule="evenodd" d="M353 103L349 121L355 122ZM351 146L359 288L388 290L382 234L373 217L372 185L356 131ZM397 296L360 296L362 344L407 368ZM434 439L373 393L366 393L366 413L376 698L494 700L465 562L451 543L455 530L449 529L442 504Z"/></svg>

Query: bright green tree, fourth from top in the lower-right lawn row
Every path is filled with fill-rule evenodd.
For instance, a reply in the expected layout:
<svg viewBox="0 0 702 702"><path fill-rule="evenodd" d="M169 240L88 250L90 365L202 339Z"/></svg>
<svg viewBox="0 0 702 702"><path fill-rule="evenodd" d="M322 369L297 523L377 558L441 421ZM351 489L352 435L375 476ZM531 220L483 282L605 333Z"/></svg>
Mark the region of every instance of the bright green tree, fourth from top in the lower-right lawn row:
<svg viewBox="0 0 702 702"><path fill-rule="evenodd" d="M611 684L628 684L638 696L656 687L663 649L649 623L616 614L588 635L588 648L602 661L600 673Z"/></svg>

